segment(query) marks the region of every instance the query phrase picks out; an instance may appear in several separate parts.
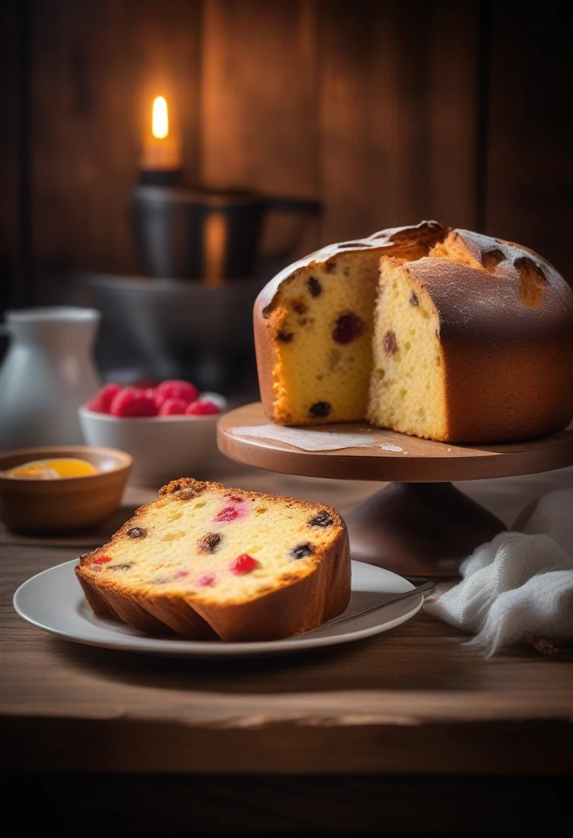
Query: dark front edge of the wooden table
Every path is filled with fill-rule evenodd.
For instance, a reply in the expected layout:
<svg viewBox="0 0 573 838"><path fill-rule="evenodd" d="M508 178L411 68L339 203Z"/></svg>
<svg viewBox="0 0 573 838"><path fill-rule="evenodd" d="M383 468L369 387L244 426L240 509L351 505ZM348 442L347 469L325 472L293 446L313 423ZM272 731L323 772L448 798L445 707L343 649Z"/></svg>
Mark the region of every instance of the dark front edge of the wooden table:
<svg viewBox="0 0 573 838"><path fill-rule="evenodd" d="M0 718L0 770L132 773L573 773L573 724L192 727L166 721Z"/></svg>

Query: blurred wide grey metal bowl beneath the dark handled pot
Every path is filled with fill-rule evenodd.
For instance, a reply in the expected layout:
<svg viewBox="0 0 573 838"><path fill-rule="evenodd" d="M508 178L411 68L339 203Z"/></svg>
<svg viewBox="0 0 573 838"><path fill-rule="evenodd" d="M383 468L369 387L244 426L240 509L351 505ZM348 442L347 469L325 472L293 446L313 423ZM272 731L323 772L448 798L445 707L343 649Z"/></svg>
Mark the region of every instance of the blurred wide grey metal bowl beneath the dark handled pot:
<svg viewBox="0 0 573 838"><path fill-rule="evenodd" d="M101 311L96 360L158 380L186 378L202 390L256 397L252 308L261 280L220 287L149 277L83 274Z"/></svg>

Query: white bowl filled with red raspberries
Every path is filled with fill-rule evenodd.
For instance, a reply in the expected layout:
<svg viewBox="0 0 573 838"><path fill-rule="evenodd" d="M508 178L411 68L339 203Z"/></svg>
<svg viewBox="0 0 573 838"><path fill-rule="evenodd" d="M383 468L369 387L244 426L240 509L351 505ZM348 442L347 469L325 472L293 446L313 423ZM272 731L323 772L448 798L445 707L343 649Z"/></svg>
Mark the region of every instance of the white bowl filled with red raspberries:
<svg viewBox="0 0 573 838"><path fill-rule="evenodd" d="M217 451L225 407L224 396L200 393L190 381L110 383L80 407L80 425L88 445L132 455L130 483L155 487L204 467Z"/></svg>

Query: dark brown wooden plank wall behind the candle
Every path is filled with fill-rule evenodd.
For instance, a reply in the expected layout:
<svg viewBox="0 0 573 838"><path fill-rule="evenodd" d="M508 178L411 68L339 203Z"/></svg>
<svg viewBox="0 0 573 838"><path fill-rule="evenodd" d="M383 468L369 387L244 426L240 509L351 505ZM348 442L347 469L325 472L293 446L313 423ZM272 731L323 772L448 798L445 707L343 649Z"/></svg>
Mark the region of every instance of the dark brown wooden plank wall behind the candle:
<svg viewBox="0 0 573 838"><path fill-rule="evenodd" d="M127 204L161 91L188 182L323 200L302 251L433 217L573 274L572 6L4 3L4 275L18 292L46 269L136 269ZM285 223L269 225L267 248Z"/></svg>

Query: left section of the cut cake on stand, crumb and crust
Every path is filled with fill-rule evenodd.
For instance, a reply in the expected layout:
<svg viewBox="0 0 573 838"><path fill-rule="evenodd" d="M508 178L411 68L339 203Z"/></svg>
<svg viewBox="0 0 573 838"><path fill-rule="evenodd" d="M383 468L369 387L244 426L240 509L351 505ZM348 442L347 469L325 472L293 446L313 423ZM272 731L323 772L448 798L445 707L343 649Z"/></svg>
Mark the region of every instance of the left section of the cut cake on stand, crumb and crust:
<svg viewBox="0 0 573 838"><path fill-rule="evenodd" d="M295 262L266 285L254 325L261 398L282 425L364 419L380 256L427 256L436 221L382 230Z"/></svg>

